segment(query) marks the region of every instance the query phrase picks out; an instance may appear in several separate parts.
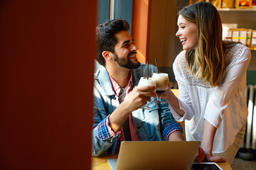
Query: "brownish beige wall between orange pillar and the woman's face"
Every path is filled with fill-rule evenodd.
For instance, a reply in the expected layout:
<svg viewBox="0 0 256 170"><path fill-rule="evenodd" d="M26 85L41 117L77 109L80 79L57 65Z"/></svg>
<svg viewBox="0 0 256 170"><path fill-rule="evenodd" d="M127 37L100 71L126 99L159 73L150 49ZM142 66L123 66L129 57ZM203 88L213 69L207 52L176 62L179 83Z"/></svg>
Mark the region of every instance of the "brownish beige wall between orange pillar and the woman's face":
<svg viewBox="0 0 256 170"><path fill-rule="evenodd" d="M156 57L159 67L172 67L176 55L182 50L176 37L177 8L188 1L152 1L150 13L149 63Z"/></svg>

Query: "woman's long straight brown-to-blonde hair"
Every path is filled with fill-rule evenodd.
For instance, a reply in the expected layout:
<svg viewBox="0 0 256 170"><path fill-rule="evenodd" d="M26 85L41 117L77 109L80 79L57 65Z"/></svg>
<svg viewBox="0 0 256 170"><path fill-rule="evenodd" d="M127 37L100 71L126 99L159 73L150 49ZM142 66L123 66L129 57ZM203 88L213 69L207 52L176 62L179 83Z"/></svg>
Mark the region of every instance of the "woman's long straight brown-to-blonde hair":
<svg viewBox="0 0 256 170"><path fill-rule="evenodd" d="M218 86L224 70L222 23L216 8L206 2L184 7L178 13L188 21L196 23L198 46L187 50L188 71L203 79L210 86Z"/></svg>

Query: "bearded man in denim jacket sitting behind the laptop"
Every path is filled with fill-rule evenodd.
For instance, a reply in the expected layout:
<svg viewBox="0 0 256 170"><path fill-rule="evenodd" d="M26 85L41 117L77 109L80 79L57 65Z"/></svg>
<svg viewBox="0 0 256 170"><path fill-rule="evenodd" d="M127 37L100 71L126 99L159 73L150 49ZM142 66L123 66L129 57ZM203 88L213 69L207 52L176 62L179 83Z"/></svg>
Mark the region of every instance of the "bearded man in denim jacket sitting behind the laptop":
<svg viewBox="0 0 256 170"><path fill-rule="evenodd" d="M104 66L95 73L92 156L118 154L124 140L183 140L182 127L174 120L168 103L156 100L155 86L137 88L146 76L146 64L137 61L137 47L123 19L97 26L97 61ZM149 66L149 75L156 72Z"/></svg>

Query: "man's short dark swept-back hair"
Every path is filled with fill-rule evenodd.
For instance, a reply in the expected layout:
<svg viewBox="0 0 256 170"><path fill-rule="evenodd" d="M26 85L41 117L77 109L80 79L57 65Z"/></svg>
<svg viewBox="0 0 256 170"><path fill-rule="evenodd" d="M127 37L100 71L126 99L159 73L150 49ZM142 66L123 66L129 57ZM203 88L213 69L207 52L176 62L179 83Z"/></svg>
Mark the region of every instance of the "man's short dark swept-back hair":
<svg viewBox="0 0 256 170"><path fill-rule="evenodd" d="M102 56L103 51L114 53L114 45L117 44L115 36L121 30L129 30L129 23L124 19L114 19L100 24L96 28L97 34L97 57L96 60L105 67L106 61Z"/></svg>

